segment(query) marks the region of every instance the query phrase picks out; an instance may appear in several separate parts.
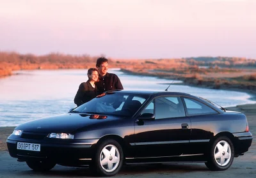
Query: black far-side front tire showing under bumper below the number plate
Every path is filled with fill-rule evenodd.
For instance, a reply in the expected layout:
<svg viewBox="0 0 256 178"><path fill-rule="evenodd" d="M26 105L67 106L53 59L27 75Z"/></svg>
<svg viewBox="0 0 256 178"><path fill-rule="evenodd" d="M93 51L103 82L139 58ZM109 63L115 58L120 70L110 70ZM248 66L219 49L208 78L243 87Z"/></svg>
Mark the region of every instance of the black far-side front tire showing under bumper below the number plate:
<svg viewBox="0 0 256 178"><path fill-rule="evenodd" d="M56 163L51 161L26 161L29 168L36 172L45 172L55 167Z"/></svg>

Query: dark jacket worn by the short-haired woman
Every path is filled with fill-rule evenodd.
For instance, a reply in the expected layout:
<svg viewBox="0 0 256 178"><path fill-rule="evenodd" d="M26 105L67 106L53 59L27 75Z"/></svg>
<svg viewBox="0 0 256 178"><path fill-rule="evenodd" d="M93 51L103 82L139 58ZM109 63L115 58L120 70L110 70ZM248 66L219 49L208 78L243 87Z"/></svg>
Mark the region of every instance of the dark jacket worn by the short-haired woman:
<svg viewBox="0 0 256 178"><path fill-rule="evenodd" d="M95 85L95 89L93 89L89 80L87 80L87 82L83 82L79 85L74 102L76 103L77 107L79 107L80 105L83 105L83 103L95 98L98 94L97 86Z"/></svg>

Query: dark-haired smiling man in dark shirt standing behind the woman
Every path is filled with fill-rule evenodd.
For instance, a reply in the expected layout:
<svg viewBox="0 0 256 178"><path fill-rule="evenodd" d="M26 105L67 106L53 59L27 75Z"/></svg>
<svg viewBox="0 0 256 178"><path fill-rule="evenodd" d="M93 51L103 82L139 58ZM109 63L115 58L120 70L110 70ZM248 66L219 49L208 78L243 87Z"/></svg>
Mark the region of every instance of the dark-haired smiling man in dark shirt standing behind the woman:
<svg viewBox="0 0 256 178"><path fill-rule="evenodd" d="M99 82L95 84L100 93L115 89L124 89L117 75L108 73L108 59L99 57L97 59L96 68L99 70Z"/></svg>

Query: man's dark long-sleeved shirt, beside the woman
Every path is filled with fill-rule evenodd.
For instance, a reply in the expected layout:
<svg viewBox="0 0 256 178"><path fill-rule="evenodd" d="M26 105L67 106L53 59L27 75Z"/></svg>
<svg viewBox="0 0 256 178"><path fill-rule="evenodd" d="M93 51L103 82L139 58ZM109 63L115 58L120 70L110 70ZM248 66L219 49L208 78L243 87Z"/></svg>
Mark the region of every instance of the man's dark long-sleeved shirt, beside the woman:
<svg viewBox="0 0 256 178"><path fill-rule="evenodd" d="M124 89L120 79L114 73L106 73L104 77L99 77L99 82L95 84L100 93L115 89Z"/></svg>

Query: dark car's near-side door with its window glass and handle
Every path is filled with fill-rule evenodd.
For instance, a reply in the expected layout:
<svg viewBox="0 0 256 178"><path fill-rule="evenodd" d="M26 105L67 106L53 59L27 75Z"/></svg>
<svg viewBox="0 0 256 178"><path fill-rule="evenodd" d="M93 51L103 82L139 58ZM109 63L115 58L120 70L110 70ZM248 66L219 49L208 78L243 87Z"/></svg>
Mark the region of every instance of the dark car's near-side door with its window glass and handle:
<svg viewBox="0 0 256 178"><path fill-rule="evenodd" d="M163 96L150 101L141 114L151 113L154 120L134 123L134 148L138 158L179 156L189 143L190 121L178 96Z"/></svg>

